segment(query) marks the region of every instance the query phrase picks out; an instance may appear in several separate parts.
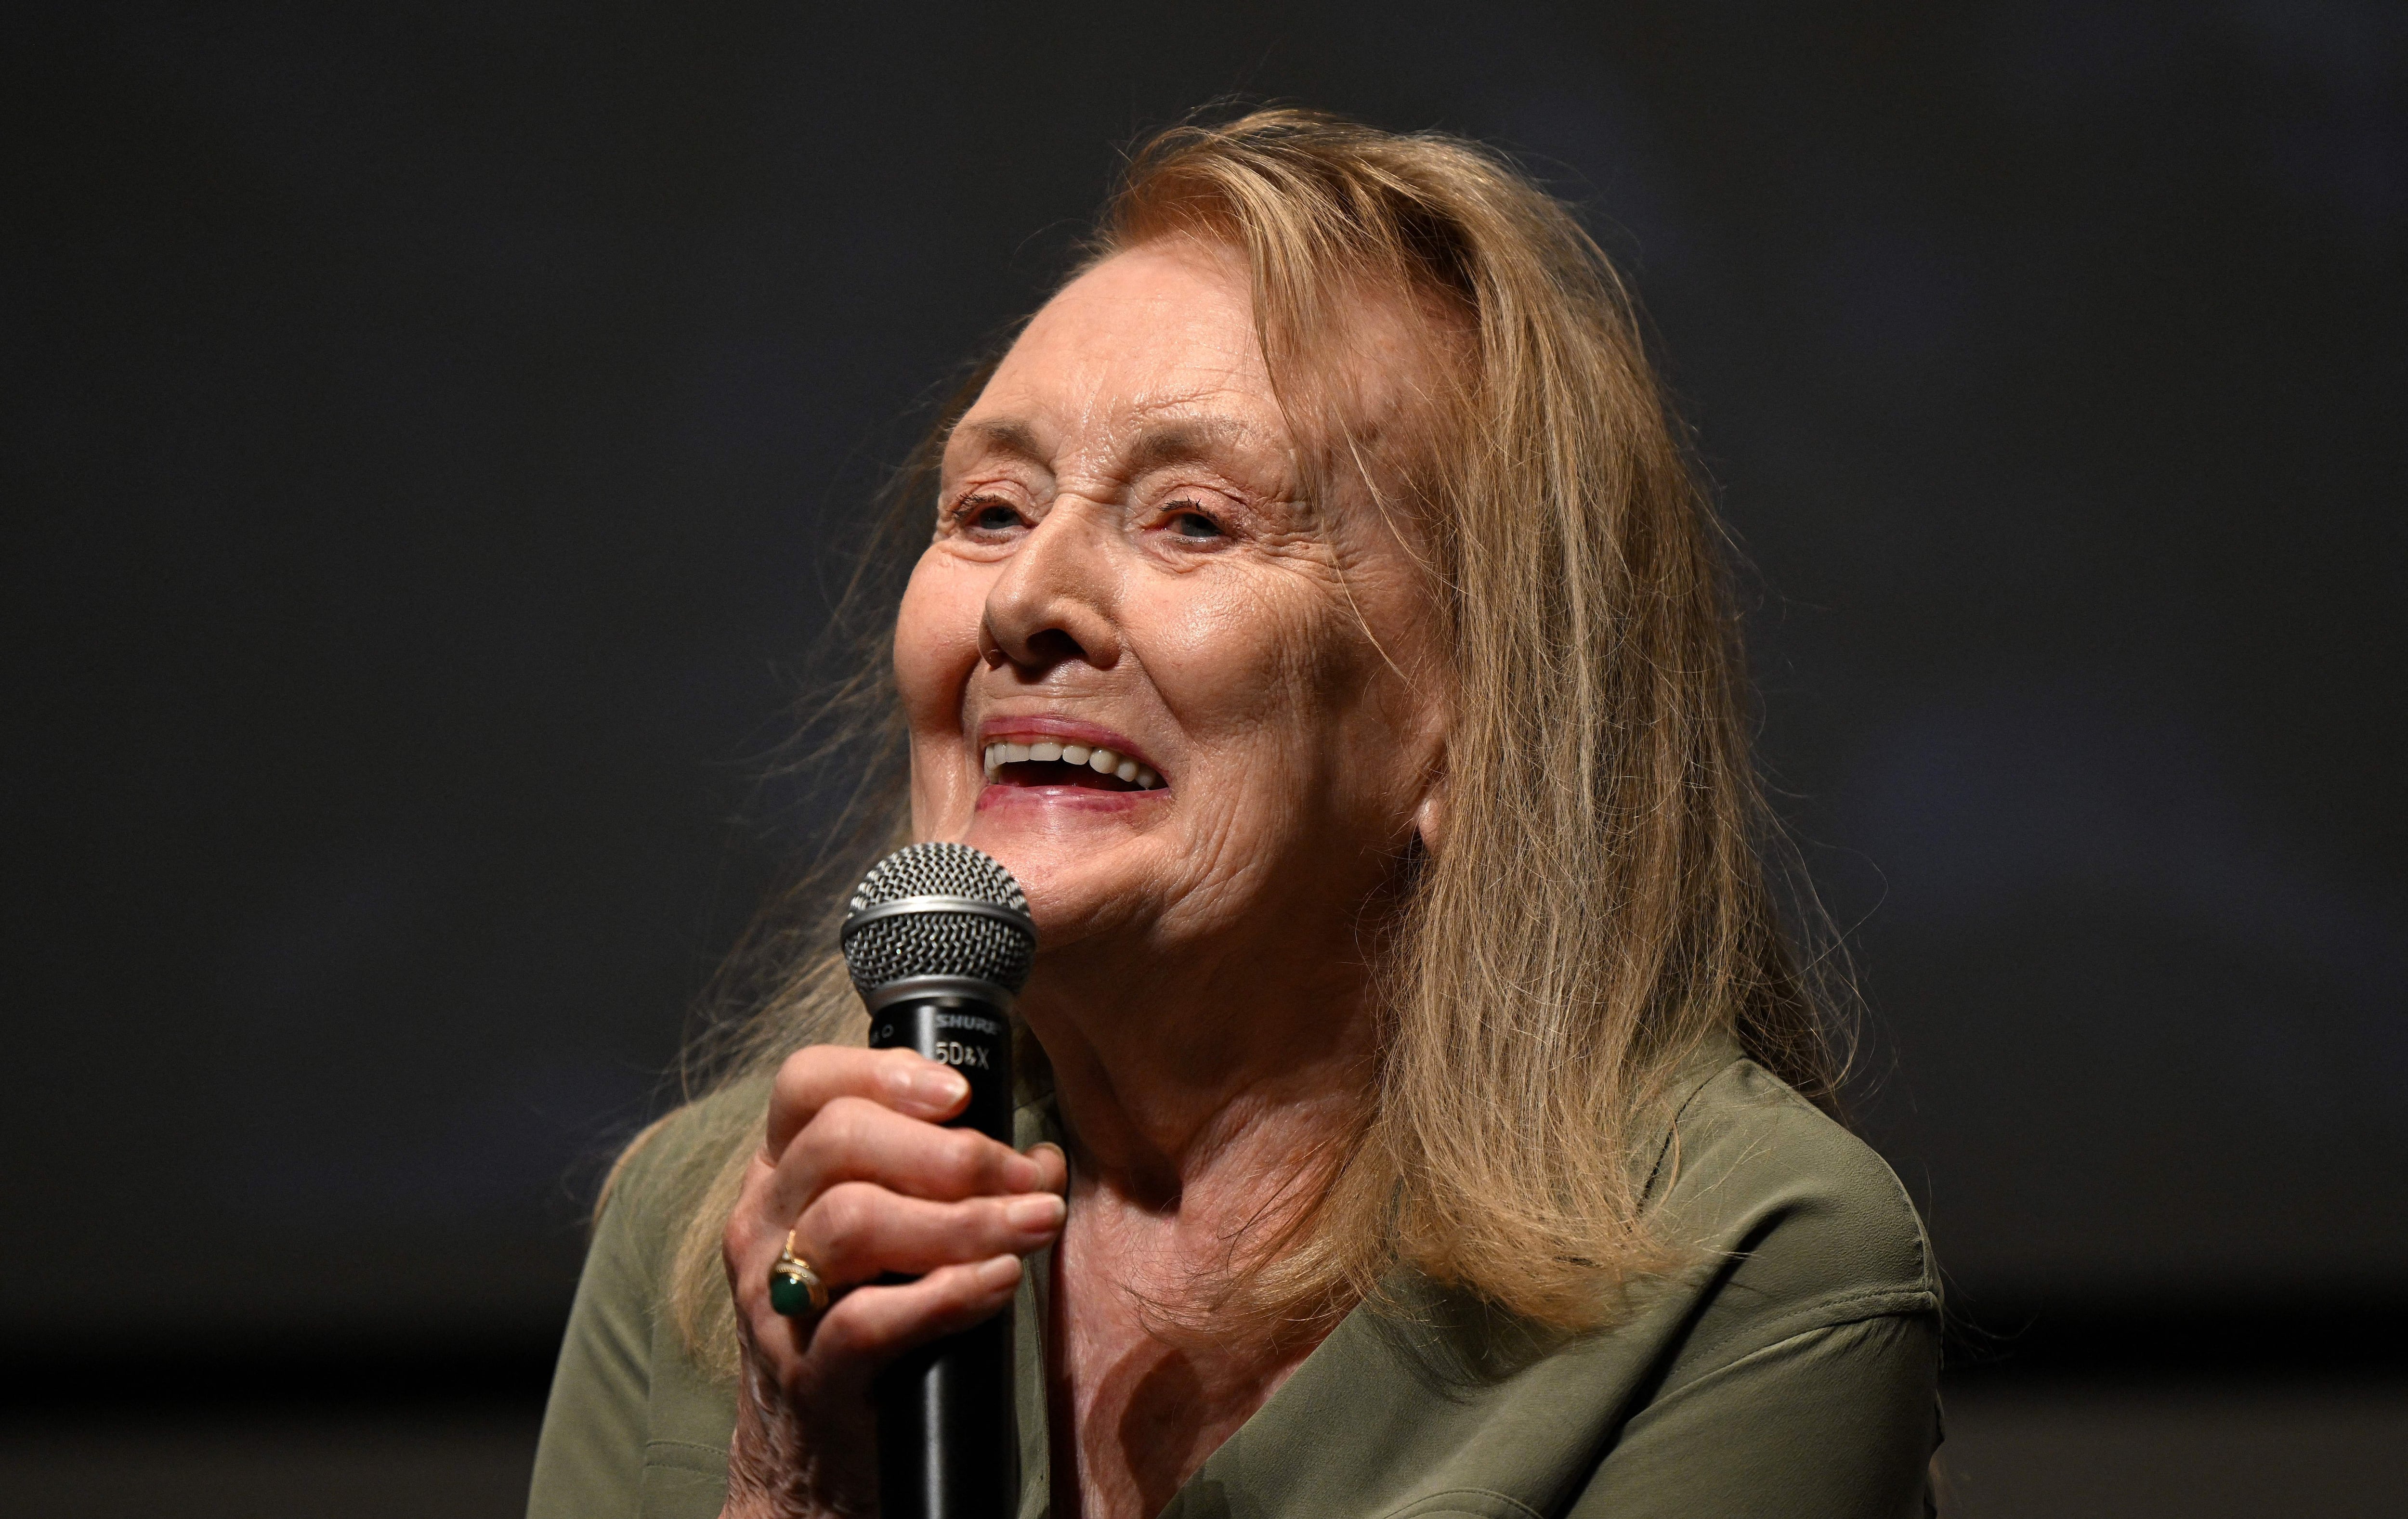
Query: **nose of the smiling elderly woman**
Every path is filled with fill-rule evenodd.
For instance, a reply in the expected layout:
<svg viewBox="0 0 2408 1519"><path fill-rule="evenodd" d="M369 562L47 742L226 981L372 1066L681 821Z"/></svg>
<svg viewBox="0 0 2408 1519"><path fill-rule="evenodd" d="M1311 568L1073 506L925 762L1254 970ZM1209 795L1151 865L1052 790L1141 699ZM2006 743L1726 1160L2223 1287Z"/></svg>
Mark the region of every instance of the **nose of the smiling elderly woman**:
<svg viewBox="0 0 2408 1519"><path fill-rule="evenodd" d="M1120 662L1115 518L1105 506L1060 496L1028 530L978 623L978 652L990 667L1045 676L1072 662Z"/></svg>

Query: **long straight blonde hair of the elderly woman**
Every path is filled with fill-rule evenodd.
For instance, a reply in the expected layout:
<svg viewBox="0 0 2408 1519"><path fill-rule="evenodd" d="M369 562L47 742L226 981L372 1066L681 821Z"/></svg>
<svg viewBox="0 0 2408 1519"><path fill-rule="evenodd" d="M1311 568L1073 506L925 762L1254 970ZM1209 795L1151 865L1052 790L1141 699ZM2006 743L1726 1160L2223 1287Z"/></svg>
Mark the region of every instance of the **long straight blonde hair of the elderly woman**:
<svg viewBox="0 0 2408 1519"><path fill-rule="evenodd" d="M1837 1081L1830 999L1767 883L1777 838L1722 530L1623 282L1503 156L1308 111L1182 125L1132 156L1088 262L1182 236L1245 253L1283 402L1344 364L1351 291L1399 291L1454 327L1454 373L1399 477L1454 662L1445 835L1387 936L1361 1134L1240 1254L1221 1310L1274 1334L1327 1326L1409 1266L1536 1326L1606 1324L1616 1288L1678 1257L1642 1211L1640 1155L1678 1071L1734 1042L1818 1103ZM896 537L857 599L879 604L874 583L925 542L937 450L982 378L898 477ZM867 643L891 602L852 631L879 652L826 710L886 749L845 814L838 874L898 840L905 766L889 660ZM722 994L754 1011L701 1047L713 1086L807 1042L860 1042L821 908L838 874L773 905L734 961ZM759 1115L718 1122L686 1180L672 1307L732 1370L718 1237Z"/></svg>

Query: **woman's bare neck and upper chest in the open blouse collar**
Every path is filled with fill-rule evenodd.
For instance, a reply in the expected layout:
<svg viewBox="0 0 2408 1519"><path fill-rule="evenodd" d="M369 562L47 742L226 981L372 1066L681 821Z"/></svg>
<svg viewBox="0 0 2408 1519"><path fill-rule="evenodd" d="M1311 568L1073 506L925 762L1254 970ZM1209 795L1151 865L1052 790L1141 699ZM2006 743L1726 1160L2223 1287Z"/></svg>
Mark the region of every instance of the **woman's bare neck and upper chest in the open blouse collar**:
<svg viewBox="0 0 2408 1519"><path fill-rule="evenodd" d="M1370 975L1351 934L1322 946L1098 936L1045 956L1021 999L1072 1155L1047 1324L1057 1514L1161 1512L1320 1338L1228 1322L1218 1293L1233 1254L1312 1201L1315 1160L1370 1095Z"/></svg>

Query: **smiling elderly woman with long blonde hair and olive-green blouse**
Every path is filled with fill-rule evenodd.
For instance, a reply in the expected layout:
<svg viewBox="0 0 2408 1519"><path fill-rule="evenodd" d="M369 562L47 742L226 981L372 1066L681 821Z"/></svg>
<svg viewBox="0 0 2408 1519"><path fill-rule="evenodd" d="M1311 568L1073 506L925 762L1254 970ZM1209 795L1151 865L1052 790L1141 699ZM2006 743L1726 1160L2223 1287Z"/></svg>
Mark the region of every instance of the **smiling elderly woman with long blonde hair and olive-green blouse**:
<svg viewBox="0 0 2408 1519"><path fill-rule="evenodd" d="M773 934L612 1180L532 1512L872 1514L872 1379L1014 1300L1031 1519L1926 1512L1922 1225L1825 1115L1717 525L1565 207L1182 128L966 395L881 843L1026 886L1023 1146Z"/></svg>

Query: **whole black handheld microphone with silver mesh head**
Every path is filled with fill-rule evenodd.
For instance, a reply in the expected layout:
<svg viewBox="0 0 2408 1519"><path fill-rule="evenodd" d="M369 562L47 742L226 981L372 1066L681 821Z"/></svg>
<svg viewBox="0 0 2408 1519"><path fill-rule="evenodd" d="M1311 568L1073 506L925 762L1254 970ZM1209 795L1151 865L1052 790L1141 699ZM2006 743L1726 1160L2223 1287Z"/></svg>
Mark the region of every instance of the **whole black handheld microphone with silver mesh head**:
<svg viewBox="0 0 2408 1519"><path fill-rule="evenodd" d="M872 1050L917 1050L970 1083L949 1129L1011 1143L1011 999L1038 927L1002 864L970 845L910 845L855 888L840 932ZM1004 1519L1019 1509L1011 1307L922 1346L874 1387L881 1519Z"/></svg>

